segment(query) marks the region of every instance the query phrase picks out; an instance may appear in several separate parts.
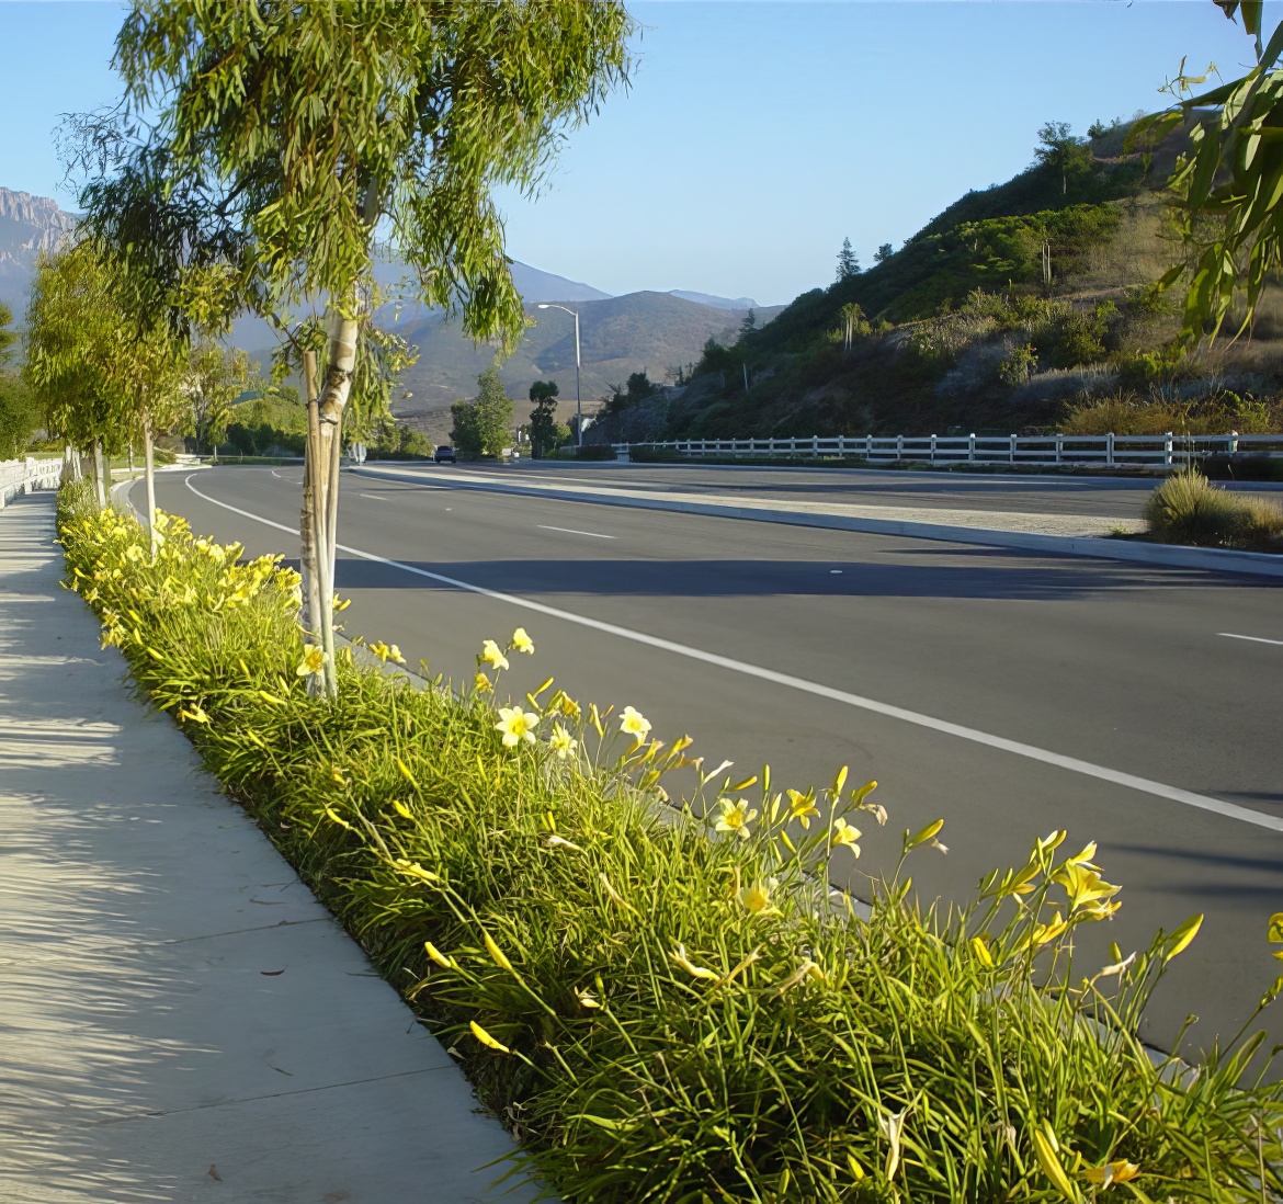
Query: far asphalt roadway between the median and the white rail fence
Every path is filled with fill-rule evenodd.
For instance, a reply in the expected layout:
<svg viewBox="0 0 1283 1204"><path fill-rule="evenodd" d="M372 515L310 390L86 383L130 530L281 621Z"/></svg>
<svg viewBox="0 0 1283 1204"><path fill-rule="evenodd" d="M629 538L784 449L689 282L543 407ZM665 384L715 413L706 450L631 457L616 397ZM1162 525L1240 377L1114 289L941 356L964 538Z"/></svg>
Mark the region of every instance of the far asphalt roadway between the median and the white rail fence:
<svg viewBox="0 0 1283 1204"><path fill-rule="evenodd" d="M431 470L448 472L448 469ZM1152 477L1057 476L1052 474L908 472L878 469L738 469L716 465L615 465L589 461L525 461L467 465L470 475L549 485L599 483L693 495L751 495L788 502L858 506L921 506L931 510L996 510L1030 515L1091 515L1138 519L1159 484ZM1227 488L1278 497L1277 484L1227 484Z"/></svg>

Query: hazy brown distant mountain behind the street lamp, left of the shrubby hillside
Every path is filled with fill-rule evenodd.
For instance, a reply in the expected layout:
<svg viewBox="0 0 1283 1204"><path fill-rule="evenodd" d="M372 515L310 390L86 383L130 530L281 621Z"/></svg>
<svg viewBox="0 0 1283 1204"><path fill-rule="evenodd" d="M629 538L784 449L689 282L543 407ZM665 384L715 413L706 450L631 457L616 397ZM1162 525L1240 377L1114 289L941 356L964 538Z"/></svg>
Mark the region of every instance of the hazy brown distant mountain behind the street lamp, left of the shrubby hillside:
<svg viewBox="0 0 1283 1204"><path fill-rule="evenodd" d="M629 293L604 300L577 302L582 368L580 390L585 411L597 407L611 385L622 385L633 372L647 372L663 384L668 367L686 367L699 359L708 339L733 341L745 309L726 309L685 300L671 293ZM758 323L769 322L783 307L757 309ZM575 412L575 320L556 309L529 304L526 330L499 376L508 395L523 399L536 380L556 380L561 388L559 417ZM412 394L394 404L411 425L445 438L449 406L476 393L477 375L494 362L493 347L476 347L454 323L429 314L398 332L418 347L418 363L403 384ZM522 413L518 400L518 413Z"/></svg>

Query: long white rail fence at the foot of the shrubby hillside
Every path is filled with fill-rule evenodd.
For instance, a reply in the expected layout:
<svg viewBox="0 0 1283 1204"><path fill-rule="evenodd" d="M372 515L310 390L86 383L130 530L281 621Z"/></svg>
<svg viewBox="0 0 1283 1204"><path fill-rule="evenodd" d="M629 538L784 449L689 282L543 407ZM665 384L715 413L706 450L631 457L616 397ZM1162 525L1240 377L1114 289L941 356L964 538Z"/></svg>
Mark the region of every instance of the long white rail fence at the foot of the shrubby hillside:
<svg viewBox="0 0 1283 1204"><path fill-rule="evenodd" d="M1180 465L1211 454L1283 454L1283 435L812 435L808 439L680 439L616 443L617 460L635 451L679 456L852 456L871 463Z"/></svg>

